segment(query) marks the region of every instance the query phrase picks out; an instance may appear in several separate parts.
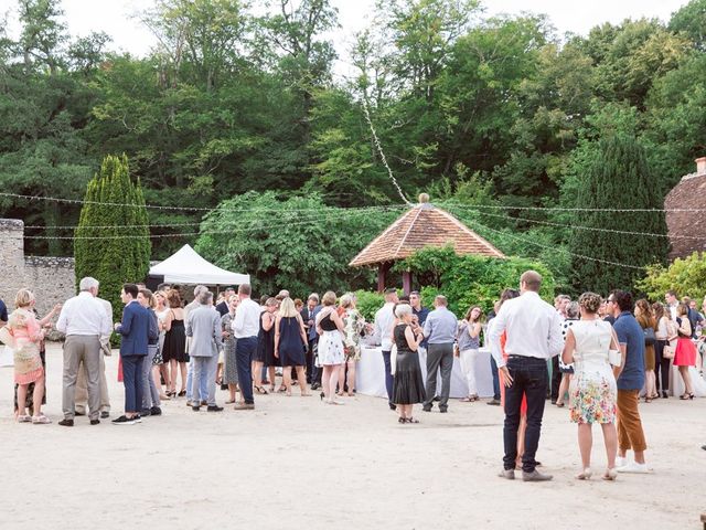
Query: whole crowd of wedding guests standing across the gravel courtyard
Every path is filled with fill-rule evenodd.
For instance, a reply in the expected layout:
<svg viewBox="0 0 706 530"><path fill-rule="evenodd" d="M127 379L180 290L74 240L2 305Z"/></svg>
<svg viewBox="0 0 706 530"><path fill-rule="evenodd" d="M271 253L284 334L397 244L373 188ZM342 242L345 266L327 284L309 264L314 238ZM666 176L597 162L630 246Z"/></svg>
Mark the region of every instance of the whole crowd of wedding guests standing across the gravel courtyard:
<svg viewBox="0 0 706 530"><path fill-rule="evenodd" d="M255 409L255 395L312 395L330 405L355 394L361 341L374 335L382 346L388 405L402 424L419 423L413 407L440 413L449 407L453 358L468 385L461 402L480 400L475 370L481 342L490 347L493 399L502 405L504 458L501 476L527 481L552 479L535 459L546 400L563 407L578 424L581 455L579 479L591 477L591 426L601 425L608 467L602 478L618 473L648 473L646 442L639 411L644 402L666 399L670 367L678 367L684 385L681 400L694 399L694 383L703 383L693 367L699 362L704 316L688 298L665 294L665 304L614 290L607 298L593 293L573 301L555 298L554 307L538 296L541 276L521 277L521 288L505 289L493 310L468 308L462 319L439 295L434 309L421 305L418 292L399 297L384 293L385 304L366 322L352 293L333 292L306 300L289 292L252 298L249 285L228 288L217 299L196 286L194 299L182 301L178 288L152 293L141 284L125 284L121 321L111 324L110 304L98 297L99 284L86 277L77 296L55 306L40 319L34 295L21 289L8 315L0 303L0 340L14 354L15 417L19 423L47 424L44 384L44 335L55 327L66 337L62 379L62 426L87 415L90 425L110 417L104 356L111 354L110 337L120 340L119 378L125 384L125 412L115 425L140 423L162 414L161 402L185 398L194 412L224 409L217 386L227 391L235 410ZM426 363L426 380L421 364ZM277 384L277 377L280 383ZM441 388L437 389L440 375ZM179 384L178 384L179 383ZM672 383L674 384L674 383ZM437 391L438 390L438 391ZM632 452L630 456L628 452Z"/></svg>

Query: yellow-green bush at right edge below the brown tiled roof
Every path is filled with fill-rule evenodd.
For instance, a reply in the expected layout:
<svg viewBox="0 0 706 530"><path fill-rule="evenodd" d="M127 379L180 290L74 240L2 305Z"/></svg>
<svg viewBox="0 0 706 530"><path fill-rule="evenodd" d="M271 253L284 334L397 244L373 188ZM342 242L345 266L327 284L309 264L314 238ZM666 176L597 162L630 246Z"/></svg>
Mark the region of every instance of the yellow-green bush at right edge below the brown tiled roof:
<svg viewBox="0 0 706 530"><path fill-rule="evenodd" d="M695 252L684 259L676 258L668 267L650 266L638 285L652 300L662 300L670 289L676 290L680 297L700 300L706 295L706 253Z"/></svg>

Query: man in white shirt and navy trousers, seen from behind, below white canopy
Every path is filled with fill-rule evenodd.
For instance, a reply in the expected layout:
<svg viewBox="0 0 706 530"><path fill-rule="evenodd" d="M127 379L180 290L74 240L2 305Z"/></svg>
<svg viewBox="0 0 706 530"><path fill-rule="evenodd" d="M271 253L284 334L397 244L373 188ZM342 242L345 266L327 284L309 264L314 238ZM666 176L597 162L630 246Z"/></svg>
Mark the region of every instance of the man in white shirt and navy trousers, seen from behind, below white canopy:
<svg viewBox="0 0 706 530"><path fill-rule="evenodd" d="M243 402L235 404L236 411L255 409L255 400L253 399L253 357L257 350L261 309L250 298L252 293L253 289L248 284L243 284L238 287L240 304L231 325L236 340L235 354L238 368L238 386L240 386L240 394L243 395Z"/></svg>

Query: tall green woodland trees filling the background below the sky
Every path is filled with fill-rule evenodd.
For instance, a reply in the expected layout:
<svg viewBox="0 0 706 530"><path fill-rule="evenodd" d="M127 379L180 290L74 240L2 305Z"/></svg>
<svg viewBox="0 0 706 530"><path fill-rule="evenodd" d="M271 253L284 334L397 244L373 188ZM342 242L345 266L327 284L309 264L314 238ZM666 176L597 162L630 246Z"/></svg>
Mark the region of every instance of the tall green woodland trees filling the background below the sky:
<svg viewBox="0 0 706 530"><path fill-rule="evenodd" d="M706 153L706 0L666 22L566 38L543 15L488 18L475 0L378 2L345 76L330 38L343 21L330 0L267 3L154 0L141 19L159 45L135 57L111 52L105 34L72 38L61 0L17 0L20 34L0 23L2 190L77 199L107 153L126 152L149 204L194 209L150 209L150 224L176 225L153 235L193 234L196 209L247 191L275 192L285 209L309 193L331 208L399 203L365 103L409 197L456 204L505 253L546 263L566 289L576 286L571 225L585 220L536 208L588 200L579 189L600 140L621 132L645 148L657 200ZM0 214L45 226L29 253L60 255L69 247L54 236L68 233L54 226L75 224L79 208L2 197ZM152 257L193 240L157 239ZM347 275L341 267L330 271Z"/></svg>

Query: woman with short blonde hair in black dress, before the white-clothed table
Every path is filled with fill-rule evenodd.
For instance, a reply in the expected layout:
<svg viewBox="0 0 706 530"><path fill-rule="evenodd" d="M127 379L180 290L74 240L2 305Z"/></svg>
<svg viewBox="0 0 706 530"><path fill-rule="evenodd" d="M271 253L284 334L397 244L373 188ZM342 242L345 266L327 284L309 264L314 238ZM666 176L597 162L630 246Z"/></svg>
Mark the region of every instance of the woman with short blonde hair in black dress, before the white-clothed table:
<svg viewBox="0 0 706 530"><path fill-rule="evenodd" d="M411 319L414 312L411 306L400 304L395 308L395 316L400 320L393 330L393 339L397 346L397 364L395 381L393 384L393 403L399 411L399 423L419 423L411 416L411 407L415 403L426 400L421 368L417 348L424 339L421 330L413 331Z"/></svg>

